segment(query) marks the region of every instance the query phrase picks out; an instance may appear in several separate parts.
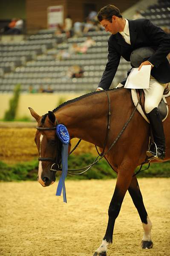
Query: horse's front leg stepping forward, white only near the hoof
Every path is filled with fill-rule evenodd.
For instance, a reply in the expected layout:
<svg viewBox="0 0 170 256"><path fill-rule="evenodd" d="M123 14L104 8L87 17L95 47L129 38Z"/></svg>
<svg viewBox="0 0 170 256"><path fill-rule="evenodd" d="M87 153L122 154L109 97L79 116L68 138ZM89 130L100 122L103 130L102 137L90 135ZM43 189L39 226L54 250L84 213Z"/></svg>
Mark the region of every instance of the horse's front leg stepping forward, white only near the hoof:
<svg viewBox="0 0 170 256"><path fill-rule="evenodd" d="M124 196L132 180L133 172L127 171L127 169L121 169L118 172L118 178L115 186L115 191L112 200L109 205L108 215L109 220L107 224L106 234L102 240L101 245L95 251L93 256L106 256L107 249L110 244L112 244L113 229L115 225L115 219L121 209L121 204L123 202Z"/></svg>

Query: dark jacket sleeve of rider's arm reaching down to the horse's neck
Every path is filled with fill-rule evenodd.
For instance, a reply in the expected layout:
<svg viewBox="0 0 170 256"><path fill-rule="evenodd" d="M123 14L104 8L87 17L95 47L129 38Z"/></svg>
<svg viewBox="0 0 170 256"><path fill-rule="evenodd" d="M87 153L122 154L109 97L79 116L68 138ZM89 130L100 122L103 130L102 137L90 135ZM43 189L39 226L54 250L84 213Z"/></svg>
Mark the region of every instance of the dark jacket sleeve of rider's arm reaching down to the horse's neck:
<svg viewBox="0 0 170 256"><path fill-rule="evenodd" d="M112 80L115 76L115 73L118 69L118 65L120 62L121 55L115 50L112 46L112 41L110 42L110 38L108 41L108 61L106 64L106 68L104 73L101 77L101 81L98 84L98 87L105 89L109 89L110 85L112 84Z"/></svg>

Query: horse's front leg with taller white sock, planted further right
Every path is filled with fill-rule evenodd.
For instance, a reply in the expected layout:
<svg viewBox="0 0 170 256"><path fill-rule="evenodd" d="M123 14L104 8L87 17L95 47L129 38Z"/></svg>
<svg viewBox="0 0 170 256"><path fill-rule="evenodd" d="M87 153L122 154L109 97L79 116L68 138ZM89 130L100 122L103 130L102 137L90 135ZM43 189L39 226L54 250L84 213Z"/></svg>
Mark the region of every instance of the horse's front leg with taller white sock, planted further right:
<svg viewBox="0 0 170 256"><path fill-rule="evenodd" d="M152 223L147 215L147 211L144 207L143 198L141 195L141 191L139 189L138 180L136 177L133 177L129 189L128 189L130 196L133 200L133 203L138 210L138 214L141 218L142 226L144 229L144 236L141 241L142 249L150 249L153 247L153 242L151 239L151 228Z"/></svg>

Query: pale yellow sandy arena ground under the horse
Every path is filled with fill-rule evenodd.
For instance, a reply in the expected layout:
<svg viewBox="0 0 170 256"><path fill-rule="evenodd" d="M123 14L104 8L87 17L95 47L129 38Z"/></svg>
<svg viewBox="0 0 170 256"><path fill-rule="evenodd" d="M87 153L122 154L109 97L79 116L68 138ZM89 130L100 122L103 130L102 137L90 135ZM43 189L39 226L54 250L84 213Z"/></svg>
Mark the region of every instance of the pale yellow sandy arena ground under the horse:
<svg viewBox="0 0 170 256"><path fill-rule="evenodd" d="M92 256L107 227L116 180L66 181L68 203L56 197L57 183L0 183L1 256ZM153 223L153 249L142 250L143 230L130 195L124 198L108 256L170 255L170 179L139 179Z"/></svg>

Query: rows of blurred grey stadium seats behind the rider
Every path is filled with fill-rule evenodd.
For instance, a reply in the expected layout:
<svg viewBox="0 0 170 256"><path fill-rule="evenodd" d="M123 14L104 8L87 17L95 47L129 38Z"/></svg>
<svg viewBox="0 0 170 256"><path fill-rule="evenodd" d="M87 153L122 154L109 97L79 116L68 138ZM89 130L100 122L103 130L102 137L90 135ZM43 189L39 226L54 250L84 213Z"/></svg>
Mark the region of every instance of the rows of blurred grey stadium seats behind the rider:
<svg viewBox="0 0 170 256"><path fill-rule="evenodd" d="M158 0L157 4L141 11L141 15L158 26L170 28L170 1ZM87 37L96 44L86 54L72 54L68 58L58 60L56 56L61 50L68 51L76 43L81 44ZM89 92L96 89L107 63L107 39L105 31L93 31L78 38L66 39L65 34L55 35L53 30L40 30L36 35L27 36L20 43L0 43L0 92L10 93L18 83L22 91L29 87L39 90L50 87L54 92ZM79 65L84 70L83 77L70 78L69 68ZM130 63L121 58L116 76L112 82L115 87L124 77Z"/></svg>

